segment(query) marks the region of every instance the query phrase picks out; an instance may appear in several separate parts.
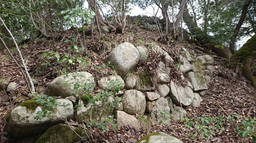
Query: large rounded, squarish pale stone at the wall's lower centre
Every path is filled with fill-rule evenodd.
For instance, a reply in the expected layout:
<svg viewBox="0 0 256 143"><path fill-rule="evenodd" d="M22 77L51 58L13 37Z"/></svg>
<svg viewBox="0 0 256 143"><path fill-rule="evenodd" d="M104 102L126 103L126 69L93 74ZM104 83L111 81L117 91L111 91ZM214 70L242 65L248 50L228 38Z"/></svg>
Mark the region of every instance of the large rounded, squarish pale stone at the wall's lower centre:
<svg viewBox="0 0 256 143"><path fill-rule="evenodd" d="M146 99L142 92L131 89L127 90L121 96L121 103L123 103L123 111L127 114L143 115L146 108Z"/></svg>

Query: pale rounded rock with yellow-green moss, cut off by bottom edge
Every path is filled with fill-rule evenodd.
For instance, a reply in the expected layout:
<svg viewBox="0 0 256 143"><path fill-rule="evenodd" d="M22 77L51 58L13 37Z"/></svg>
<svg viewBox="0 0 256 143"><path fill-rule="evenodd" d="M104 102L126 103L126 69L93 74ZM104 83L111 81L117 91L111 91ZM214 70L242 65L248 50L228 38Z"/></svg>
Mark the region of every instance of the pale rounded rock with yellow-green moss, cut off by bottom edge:
<svg viewBox="0 0 256 143"><path fill-rule="evenodd" d="M138 140L137 143L183 143L176 137L170 136L166 133L153 133L146 135Z"/></svg>

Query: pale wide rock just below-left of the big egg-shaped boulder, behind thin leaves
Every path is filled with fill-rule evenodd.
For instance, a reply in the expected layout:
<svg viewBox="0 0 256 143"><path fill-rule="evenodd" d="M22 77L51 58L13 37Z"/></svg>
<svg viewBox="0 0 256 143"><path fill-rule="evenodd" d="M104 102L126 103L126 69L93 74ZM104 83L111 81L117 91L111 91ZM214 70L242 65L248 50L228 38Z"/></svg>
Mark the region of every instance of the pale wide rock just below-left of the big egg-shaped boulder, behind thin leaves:
<svg viewBox="0 0 256 143"><path fill-rule="evenodd" d="M102 77L99 80L99 88L111 90L109 88L109 84L112 83L112 80L119 80L119 82L117 84L123 84L121 89L124 88L124 85L125 85L124 81L123 81L122 77L120 77L119 75L110 75L108 77Z"/></svg>

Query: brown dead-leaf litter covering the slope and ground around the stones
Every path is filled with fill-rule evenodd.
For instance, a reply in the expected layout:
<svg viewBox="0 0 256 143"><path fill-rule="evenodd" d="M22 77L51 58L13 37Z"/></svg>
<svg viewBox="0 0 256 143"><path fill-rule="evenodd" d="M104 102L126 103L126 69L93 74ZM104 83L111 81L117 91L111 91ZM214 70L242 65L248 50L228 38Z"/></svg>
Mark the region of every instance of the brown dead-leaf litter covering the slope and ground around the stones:
<svg viewBox="0 0 256 143"><path fill-rule="evenodd" d="M132 28L128 29L124 34L105 34L101 38L97 36L86 36L86 46L90 58L90 65L101 65L104 63L104 60L108 53L115 47L114 45L119 45L122 42L130 42L135 46L138 45L146 45L147 43L152 43L152 39L154 39L158 33L147 31L145 29L140 28ZM61 35L65 38L63 39L72 39L76 33L74 31L68 30L62 32ZM141 39L143 38L143 39ZM63 43L63 39L60 39L57 42L53 40L47 40L44 43L41 43L40 39L36 41L32 41L26 45L21 46L21 52L23 57L25 58L26 65L29 69L30 76L35 77L39 81L39 85L43 86L44 88L56 77L58 71L61 70L61 67L50 67L48 71L46 71L43 75L35 75L35 69L37 64L40 60L39 56L43 54L43 52L55 51L58 52L60 55L67 54L67 48L71 45L70 42ZM140 39L140 40L139 40ZM159 45L160 47L165 47L168 49L169 54L175 59L175 57L180 53L180 49L182 47L189 48L189 43L186 41L178 42L171 46L167 46L163 43L155 42L154 44ZM11 48L10 48L11 49ZM97 54L92 54L93 52ZM194 53L194 50L190 47L190 53ZM1 53L1 52L0 52ZM2 56L8 55L6 51L3 51ZM0 56L1 56L0 55ZM13 52L13 56L18 60L18 53L17 51ZM149 58L150 62L142 62L139 63L140 68L155 68L157 66L157 59L159 57L155 57L154 54L150 55ZM46 58L44 58L46 59ZM206 90L205 95L202 97L201 104L196 107L196 109L192 109L191 107L185 107L184 109L188 112L188 118L197 118L202 115L206 115L206 117L213 117L213 116L223 116L226 117L228 115L238 114L240 119L232 116L232 121L240 122L245 119L245 117L256 118L256 90L250 84L250 82L246 79L242 79L240 77L233 77L231 74L231 70L226 68L221 63L221 58L216 58L214 61L214 66L217 66L213 72L213 76L211 77L211 82L208 84L208 90ZM12 64L14 63L13 60L7 59L2 61L2 65ZM79 65L75 65L70 68L66 68L68 72L74 72L79 68ZM174 68L175 69L175 68ZM52 75L52 71L55 70L55 74ZM57 71L57 72L56 72ZM91 66L87 68L87 72L91 73L93 76L99 75ZM107 71L107 74L111 74L111 71ZM171 73L172 74L172 73ZM16 65L11 66L4 66L0 69L0 78L11 76L11 82L16 82L19 84L18 88L15 90L14 96L10 98L4 91L0 92L0 142L34 142L37 137L35 138L28 138L28 139L21 139L17 140L11 137L5 130L5 117L9 113L10 110L13 109L17 105L18 102L21 100L28 100L28 87L25 83L21 82L24 80L21 72L19 71ZM177 77L178 74L173 73L172 78L179 80ZM18 101L19 100L19 101ZM7 104L6 104L7 103ZM8 105L8 103L10 103ZM250 111L248 113L248 111ZM225 113L226 112L226 113ZM248 113L248 114L247 114ZM116 140L116 142L125 142L128 141L130 138L140 139L141 137L156 132L165 132L169 135L172 135L179 140L187 143L192 142L206 142L207 138L202 138L202 135L199 133L196 134L198 129L189 129L185 127L184 120L170 120L170 123L167 125L165 124L151 124L151 129L138 129L135 130L129 126L122 126L118 129L117 132L114 130L108 131L107 133L103 134L101 141L104 140ZM237 136L236 125L230 121L223 121L224 130L214 130L211 135L213 136L212 139L209 139L208 142L221 142L221 143L230 143L230 142L252 142L252 138L243 138L243 137L230 137L230 136ZM255 127L255 126L254 126ZM210 130L210 129L208 129ZM99 132L101 132L99 130ZM196 134L195 138L189 137L191 134ZM103 140L104 139L104 140Z"/></svg>

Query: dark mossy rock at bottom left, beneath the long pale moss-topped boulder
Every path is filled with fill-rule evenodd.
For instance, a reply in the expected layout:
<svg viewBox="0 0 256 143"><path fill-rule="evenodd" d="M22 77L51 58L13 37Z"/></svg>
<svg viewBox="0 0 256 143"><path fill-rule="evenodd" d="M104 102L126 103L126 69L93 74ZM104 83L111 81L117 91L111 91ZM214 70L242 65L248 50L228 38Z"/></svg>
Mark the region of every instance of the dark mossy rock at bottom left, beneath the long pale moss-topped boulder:
<svg viewBox="0 0 256 143"><path fill-rule="evenodd" d="M78 135L81 136L82 128L70 126ZM68 125L58 124L50 127L38 138L36 143L74 143L81 139Z"/></svg>

